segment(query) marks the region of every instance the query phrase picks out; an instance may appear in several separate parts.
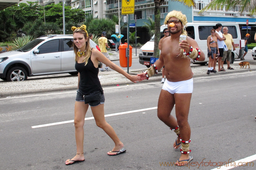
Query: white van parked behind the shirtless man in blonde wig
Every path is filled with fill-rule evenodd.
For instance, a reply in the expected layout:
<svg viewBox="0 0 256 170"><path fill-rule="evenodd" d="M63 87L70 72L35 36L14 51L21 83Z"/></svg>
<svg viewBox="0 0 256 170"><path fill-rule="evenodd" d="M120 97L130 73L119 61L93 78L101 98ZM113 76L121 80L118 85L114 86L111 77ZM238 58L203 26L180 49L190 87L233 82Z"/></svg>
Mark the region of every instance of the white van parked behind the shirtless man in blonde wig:
<svg viewBox="0 0 256 170"><path fill-rule="evenodd" d="M211 35L211 29L215 29L217 23L187 23L186 31L188 36L195 39L200 49L205 53L205 61L197 61L194 64L205 65L209 61L207 58L207 38ZM238 23L221 23L222 27L228 27L228 33L232 35L234 44L236 47L237 54L232 51L232 57L230 63L234 62L234 59L238 59L243 54L244 40L241 40L241 34ZM167 25L162 25L160 27L161 35L163 30L167 28ZM149 67L157 59L153 58L154 53L154 37L153 35L144 46L140 49L139 62L140 64L146 65ZM239 54L238 54L239 53Z"/></svg>

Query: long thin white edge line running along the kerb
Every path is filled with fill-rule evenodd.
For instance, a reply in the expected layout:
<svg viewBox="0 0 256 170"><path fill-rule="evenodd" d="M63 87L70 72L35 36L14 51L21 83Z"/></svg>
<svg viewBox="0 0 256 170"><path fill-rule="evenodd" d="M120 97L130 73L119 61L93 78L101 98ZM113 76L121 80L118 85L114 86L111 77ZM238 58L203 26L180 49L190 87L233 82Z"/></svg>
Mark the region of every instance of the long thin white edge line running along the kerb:
<svg viewBox="0 0 256 170"><path fill-rule="evenodd" d="M237 74L247 74L247 73L255 73L256 71L253 72L245 72L245 73L234 73L234 74L225 74L225 75L218 75L218 76L210 76L210 77L198 77L198 78L193 78L193 79L202 79L202 78L212 78L212 77L220 77L220 76L230 76L230 75L237 75ZM131 86L144 86L148 84L158 84L159 82L152 82L152 83L146 83L146 84L132 84ZM113 89L113 88L124 88L126 86L115 86L115 87L107 87L103 89ZM0 98L0 100L6 100L6 99L12 99L12 98L23 98L23 97L34 97L34 96L47 96L47 95L54 95L54 94L65 94L65 93L75 93L76 91L71 91L71 92L60 92L60 93L50 93L50 94L37 94L37 95L29 95L29 96L19 96L19 97L9 97L9 98Z"/></svg>

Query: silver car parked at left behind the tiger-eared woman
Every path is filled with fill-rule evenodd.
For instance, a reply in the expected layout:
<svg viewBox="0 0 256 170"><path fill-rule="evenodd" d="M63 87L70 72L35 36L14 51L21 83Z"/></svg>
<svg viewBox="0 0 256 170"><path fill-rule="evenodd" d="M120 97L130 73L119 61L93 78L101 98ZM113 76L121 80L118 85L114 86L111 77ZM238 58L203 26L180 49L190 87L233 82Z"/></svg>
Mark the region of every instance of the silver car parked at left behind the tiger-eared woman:
<svg viewBox="0 0 256 170"><path fill-rule="evenodd" d="M45 35L18 50L0 54L0 78L24 81L29 76L69 73L75 69L73 35ZM100 51L92 40L90 45Z"/></svg>

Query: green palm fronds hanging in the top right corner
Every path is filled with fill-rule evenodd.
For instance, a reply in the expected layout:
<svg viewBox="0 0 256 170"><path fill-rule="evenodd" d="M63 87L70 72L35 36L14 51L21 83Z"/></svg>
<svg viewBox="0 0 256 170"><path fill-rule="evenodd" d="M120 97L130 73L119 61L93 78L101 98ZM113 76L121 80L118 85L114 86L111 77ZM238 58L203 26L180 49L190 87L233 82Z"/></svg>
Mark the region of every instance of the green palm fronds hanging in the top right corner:
<svg viewBox="0 0 256 170"><path fill-rule="evenodd" d="M250 14L256 13L256 1L255 0L214 0L206 5L201 11L202 13L206 10L211 10L215 8L223 8L224 10L239 7L239 13L249 12Z"/></svg>

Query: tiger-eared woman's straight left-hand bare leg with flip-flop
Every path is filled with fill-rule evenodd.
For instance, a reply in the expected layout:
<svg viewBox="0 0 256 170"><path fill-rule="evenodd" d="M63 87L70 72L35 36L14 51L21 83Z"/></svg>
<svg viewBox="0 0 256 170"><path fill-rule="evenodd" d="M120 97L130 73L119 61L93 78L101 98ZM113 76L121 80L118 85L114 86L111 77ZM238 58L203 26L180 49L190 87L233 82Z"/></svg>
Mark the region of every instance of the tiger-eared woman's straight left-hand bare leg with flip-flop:
<svg viewBox="0 0 256 170"><path fill-rule="evenodd" d="M84 118L86 112L88 110L89 105L84 104L84 102L77 102L75 103L75 118L74 118L74 125L75 125L75 136L76 136L76 143L77 143L77 153L83 153L83 138L84 138ZM68 159L66 164L71 164L74 161L82 161L84 160L83 154L76 154L76 156L72 159Z"/></svg>

